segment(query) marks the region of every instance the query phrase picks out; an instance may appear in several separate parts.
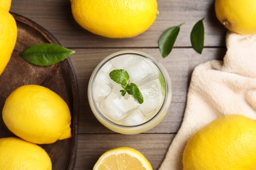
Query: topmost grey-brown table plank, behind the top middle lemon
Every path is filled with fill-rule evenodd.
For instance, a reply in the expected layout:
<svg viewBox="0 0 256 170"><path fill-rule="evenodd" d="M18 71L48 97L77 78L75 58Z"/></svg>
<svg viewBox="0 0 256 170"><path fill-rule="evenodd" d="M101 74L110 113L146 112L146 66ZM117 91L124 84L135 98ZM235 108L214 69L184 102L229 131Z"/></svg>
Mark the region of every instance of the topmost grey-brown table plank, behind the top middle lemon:
<svg viewBox="0 0 256 170"><path fill-rule="evenodd" d="M156 22L145 33L132 39L106 39L82 29L74 20L70 0L12 0L11 11L22 14L49 30L62 45L72 48L127 47L156 48L161 33L168 27L182 25L175 46L188 47L190 31L205 18L205 46L224 46L226 29L217 21L214 1L158 0Z"/></svg>

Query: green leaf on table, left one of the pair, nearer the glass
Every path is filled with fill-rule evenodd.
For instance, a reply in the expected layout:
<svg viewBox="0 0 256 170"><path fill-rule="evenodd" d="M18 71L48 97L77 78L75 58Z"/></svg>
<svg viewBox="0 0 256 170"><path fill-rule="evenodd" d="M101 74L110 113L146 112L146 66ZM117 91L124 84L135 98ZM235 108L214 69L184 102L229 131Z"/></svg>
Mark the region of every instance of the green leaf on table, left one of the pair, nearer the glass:
<svg viewBox="0 0 256 170"><path fill-rule="evenodd" d="M179 35L181 25L169 27L161 34L158 45L163 58L167 57L171 50L173 50L173 45Z"/></svg>

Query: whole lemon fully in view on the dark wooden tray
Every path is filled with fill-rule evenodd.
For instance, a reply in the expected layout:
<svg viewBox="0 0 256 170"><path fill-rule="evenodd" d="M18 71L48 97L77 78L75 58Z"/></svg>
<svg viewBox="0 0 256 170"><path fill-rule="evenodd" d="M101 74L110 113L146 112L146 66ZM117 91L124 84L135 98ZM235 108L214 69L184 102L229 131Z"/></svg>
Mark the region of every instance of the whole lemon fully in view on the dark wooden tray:
<svg viewBox="0 0 256 170"><path fill-rule="evenodd" d="M3 107L3 121L12 133L37 144L71 137L71 115L66 102L49 88L20 86Z"/></svg>

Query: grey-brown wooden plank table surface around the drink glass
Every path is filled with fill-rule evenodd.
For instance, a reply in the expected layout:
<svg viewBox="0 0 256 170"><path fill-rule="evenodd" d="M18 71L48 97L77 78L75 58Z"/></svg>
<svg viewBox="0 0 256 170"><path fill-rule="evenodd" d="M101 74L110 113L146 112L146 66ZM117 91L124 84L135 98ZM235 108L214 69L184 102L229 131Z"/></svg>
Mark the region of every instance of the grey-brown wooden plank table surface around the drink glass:
<svg viewBox="0 0 256 170"><path fill-rule="evenodd" d="M74 20L69 0L12 0L11 12L33 20L47 29L67 48L75 50L70 56L79 86L77 154L74 169L92 169L99 156L118 146L140 150L158 169L167 148L181 126L186 107L186 93L196 65L209 59L223 59L226 52L226 29L215 16L214 1L158 0L156 22L132 39L107 39L82 29ZM190 31L198 20L205 25L205 47L202 55L190 44ZM175 48L167 58L161 58L158 39L161 33L182 22ZM87 84L96 65L113 52L133 49L146 52L167 68L172 80L173 99L167 116L154 129L139 135L121 135L102 126L91 111L87 99Z"/></svg>

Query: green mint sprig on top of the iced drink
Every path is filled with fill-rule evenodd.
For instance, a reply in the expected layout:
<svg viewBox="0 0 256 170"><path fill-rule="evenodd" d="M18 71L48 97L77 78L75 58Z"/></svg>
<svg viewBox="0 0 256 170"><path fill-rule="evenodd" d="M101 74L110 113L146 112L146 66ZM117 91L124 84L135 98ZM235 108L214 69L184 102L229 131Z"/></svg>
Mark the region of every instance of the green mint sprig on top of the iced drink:
<svg viewBox="0 0 256 170"><path fill-rule="evenodd" d="M124 69L115 69L110 72L110 78L114 80L117 84L121 84L123 90L120 90L122 96L125 93L132 95L135 101L142 104L144 99L142 93L140 92L138 86L134 83L129 82L129 74Z"/></svg>

